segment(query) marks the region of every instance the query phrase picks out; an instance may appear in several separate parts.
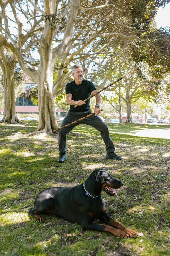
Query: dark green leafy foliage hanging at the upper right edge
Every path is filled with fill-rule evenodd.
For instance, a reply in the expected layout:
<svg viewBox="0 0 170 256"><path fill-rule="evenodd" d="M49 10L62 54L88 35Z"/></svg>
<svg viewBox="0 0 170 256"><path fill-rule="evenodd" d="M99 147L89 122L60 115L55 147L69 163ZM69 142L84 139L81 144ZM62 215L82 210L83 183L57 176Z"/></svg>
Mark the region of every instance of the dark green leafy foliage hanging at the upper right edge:
<svg viewBox="0 0 170 256"><path fill-rule="evenodd" d="M168 1L131 1L132 20L137 35L142 40L134 40L130 44L129 58L136 62L136 70L142 79L149 82L149 86L145 91L146 95L153 98L160 97L160 88L162 80L169 73L170 62L170 28L157 29L154 24L154 17L158 7L165 6ZM133 7L132 7L133 5ZM147 38L147 43L143 40ZM149 78L146 76L143 67L147 66Z"/></svg>

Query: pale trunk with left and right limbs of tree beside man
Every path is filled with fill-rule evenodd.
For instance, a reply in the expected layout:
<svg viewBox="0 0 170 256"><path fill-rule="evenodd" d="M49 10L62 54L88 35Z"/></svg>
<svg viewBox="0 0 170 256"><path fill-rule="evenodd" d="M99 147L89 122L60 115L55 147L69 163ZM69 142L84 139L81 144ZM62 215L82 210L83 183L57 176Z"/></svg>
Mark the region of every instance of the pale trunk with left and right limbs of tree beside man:
<svg viewBox="0 0 170 256"><path fill-rule="evenodd" d="M54 62L57 58L65 59L66 54L72 48L71 43L73 40L73 30L77 20L80 2L80 0L71 0L69 1L67 8L64 8L66 11L66 14L64 14L64 20L66 20L67 24L66 27L64 25L62 28L61 26L60 32L60 26L58 24L62 22L58 21L60 17L57 16L57 12L60 16L62 10L62 6L60 9L60 4L62 5L62 1L44 0L43 14L45 23L39 47L40 66L38 70L35 70L26 64L26 61L24 61L24 58L22 57L22 50L20 51L20 48L22 49L23 46L21 41L26 42L28 40L28 35L24 37L24 40L26 40L24 41L22 34L20 47L18 47L18 42L17 45L13 45L10 40L6 40L2 33L0 33L0 45L4 44L6 47L9 47L15 54L15 57L17 58L17 61L23 72L32 77L37 82L39 107L39 125L37 131L52 133L53 130L59 128L56 121L53 101L53 93L55 90L52 90ZM65 16L67 16L67 18ZM20 23L20 25L22 24ZM33 27L35 29L35 26ZM22 26L19 28L22 29ZM32 35L32 30L30 30L30 32L30 35ZM52 43L57 33L60 35L60 37L61 34L63 34L63 39L60 44L52 49ZM57 85L55 85L55 87L57 87Z"/></svg>

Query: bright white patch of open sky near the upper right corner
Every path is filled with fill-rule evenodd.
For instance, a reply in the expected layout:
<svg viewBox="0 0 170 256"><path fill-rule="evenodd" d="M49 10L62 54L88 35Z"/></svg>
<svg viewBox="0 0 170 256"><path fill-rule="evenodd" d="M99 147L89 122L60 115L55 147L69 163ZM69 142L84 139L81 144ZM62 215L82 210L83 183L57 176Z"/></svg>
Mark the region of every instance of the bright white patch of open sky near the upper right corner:
<svg viewBox="0 0 170 256"><path fill-rule="evenodd" d="M170 3L165 8L159 8L159 11L155 17L157 27L170 27Z"/></svg>

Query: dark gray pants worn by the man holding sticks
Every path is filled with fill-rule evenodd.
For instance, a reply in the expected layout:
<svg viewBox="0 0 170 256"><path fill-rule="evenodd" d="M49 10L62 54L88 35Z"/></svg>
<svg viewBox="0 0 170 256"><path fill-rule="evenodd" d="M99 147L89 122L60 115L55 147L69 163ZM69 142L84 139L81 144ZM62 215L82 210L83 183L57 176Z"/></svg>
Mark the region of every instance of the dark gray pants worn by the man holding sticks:
<svg viewBox="0 0 170 256"><path fill-rule="evenodd" d="M86 112L68 112L66 117L64 118L62 125L65 126L67 124L70 124L74 121L77 121L78 119L91 114L91 110ZM86 124L91 125L96 130L100 131L101 137L103 138L103 141L106 145L106 152L111 153L115 151L111 136L109 134L107 125L100 119L99 116L90 116L81 122L78 122L73 125L69 125L68 127L59 130L59 138L58 138L58 144L59 144L59 151L60 154L66 154L66 134L69 133L75 126L79 124Z"/></svg>

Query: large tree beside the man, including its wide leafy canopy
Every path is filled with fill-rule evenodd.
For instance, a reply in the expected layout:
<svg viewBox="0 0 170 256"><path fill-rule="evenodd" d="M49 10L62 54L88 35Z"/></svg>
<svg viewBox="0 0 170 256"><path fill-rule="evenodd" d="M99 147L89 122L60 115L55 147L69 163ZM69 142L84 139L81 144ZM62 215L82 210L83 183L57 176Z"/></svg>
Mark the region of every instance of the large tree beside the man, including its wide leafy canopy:
<svg viewBox="0 0 170 256"><path fill-rule="evenodd" d="M38 84L38 131L52 133L58 128L53 97L62 91L63 82L69 80L68 68L73 62L82 61L86 68L85 61L94 60L99 54L107 54L109 49L112 49L112 52L113 49L120 52L121 47L129 46L133 40L147 46L152 43L147 41L144 33L138 35L136 27L131 26L134 2L136 3L128 0L114 2L108 0L106 4L101 4L100 0L9 2L18 27L17 40L16 35L7 33L9 32L7 20L3 15L6 27L0 33L0 45L11 49L23 72ZM151 2L154 3L153 8L162 4L159 1ZM0 3L3 11L7 10L8 2ZM138 6L140 4L139 2ZM147 10L150 2L142 1L142 4ZM25 30L19 22L18 12L28 19L30 24L28 30ZM150 13L153 12L150 10ZM36 49L40 56L39 63L32 58L33 50ZM97 63L97 60L95 62ZM53 83L55 63L57 63L58 76ZM35 65L38 65L38 68L35 68ZM98 71L100 78L102 67ZM110 70L107 70L105 77L109 72ZM102 85L106 82L105 77Z"/></svg>

